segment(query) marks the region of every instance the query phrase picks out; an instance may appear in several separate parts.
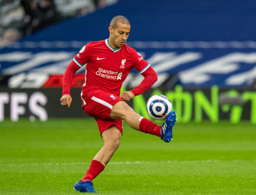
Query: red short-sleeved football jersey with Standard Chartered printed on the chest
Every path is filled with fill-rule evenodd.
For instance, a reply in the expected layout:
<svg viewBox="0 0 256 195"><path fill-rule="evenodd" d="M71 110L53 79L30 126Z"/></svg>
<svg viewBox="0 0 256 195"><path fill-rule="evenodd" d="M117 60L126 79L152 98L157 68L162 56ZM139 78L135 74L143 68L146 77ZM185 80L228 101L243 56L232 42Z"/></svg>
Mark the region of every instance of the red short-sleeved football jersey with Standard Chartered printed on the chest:
<svg viewBox="0 0 256 195"><path fill-rule="evenodd" d="M85 65L85 83L82 92L98 88L120 95L121 85L132 68L143 73L150 67L135 49L126 44L113 49L108 39L90 42L73 58L82 67Z"/></svg>

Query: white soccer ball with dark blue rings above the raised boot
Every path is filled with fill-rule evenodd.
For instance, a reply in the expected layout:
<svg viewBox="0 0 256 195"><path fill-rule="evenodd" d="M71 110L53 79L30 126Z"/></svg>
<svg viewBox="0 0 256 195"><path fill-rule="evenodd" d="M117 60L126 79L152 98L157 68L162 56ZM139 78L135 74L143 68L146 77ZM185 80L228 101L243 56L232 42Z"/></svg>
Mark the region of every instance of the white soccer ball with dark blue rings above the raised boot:
<svg viewBox="0 0 256 195"><path fill-rule="evenodd" d="M164 95L153 95L148 99L147 112L151 119L164 120L171 110L171 101Z"/></svg>

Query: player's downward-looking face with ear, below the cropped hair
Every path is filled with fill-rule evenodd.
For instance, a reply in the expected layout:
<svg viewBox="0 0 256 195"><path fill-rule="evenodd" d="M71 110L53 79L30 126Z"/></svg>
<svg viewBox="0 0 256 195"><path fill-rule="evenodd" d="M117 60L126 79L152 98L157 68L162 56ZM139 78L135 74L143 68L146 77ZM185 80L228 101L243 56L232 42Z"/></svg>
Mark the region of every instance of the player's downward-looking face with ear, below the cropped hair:
<svg viewBox="0 0 256 195"><path fill-rule="evenodd" d="M113 29L111 26L109 26L108 29L110 32L109 44L113 49L118 49L125 45L131 30L131 25L118 22L115 29Z"/></svg>

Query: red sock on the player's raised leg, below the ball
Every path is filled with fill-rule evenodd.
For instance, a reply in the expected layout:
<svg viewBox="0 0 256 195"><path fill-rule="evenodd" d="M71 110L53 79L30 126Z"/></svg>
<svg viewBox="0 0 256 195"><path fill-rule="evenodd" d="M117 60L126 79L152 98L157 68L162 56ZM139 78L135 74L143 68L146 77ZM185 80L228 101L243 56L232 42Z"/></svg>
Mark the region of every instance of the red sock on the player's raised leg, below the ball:
<svg viewBox="0 0 256 195"><path fill-rule="evenodd" d="M149 133L161 137L161 126L156 125L150 120L143 118L139 125L139 130L144 133Z"/></svg>

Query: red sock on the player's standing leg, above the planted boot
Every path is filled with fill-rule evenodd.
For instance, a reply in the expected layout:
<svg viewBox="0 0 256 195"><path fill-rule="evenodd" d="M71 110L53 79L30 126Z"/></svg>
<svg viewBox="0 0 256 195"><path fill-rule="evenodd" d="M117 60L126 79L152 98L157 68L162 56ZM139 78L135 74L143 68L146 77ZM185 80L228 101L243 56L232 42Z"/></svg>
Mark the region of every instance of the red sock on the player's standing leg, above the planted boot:
<svg viewBox="0 0 256 195"><path fill-rule="evenodd" d="M85 176L81 179L82 182L84 181L90 181L92 182L92 179L98 176L105 168L105 165L98 160L92 160L91 165L87 172L85 173Z"/></svg>

